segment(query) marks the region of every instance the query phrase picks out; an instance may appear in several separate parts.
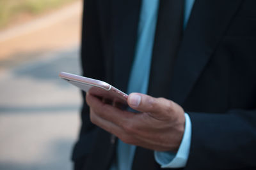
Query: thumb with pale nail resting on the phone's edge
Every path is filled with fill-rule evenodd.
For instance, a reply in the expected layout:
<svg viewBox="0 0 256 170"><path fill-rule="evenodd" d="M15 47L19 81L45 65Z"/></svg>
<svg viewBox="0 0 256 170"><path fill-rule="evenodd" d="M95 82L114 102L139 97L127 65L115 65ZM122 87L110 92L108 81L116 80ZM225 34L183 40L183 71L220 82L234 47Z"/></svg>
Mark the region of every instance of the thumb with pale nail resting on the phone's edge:
<svg viewBox="0 0 256 170"><path fill-rule="evenodd" d="M128 96L128 105L141 112L158 113L170 106L170 101L164 98L155 98L146 94L131 93Z"/></svg>

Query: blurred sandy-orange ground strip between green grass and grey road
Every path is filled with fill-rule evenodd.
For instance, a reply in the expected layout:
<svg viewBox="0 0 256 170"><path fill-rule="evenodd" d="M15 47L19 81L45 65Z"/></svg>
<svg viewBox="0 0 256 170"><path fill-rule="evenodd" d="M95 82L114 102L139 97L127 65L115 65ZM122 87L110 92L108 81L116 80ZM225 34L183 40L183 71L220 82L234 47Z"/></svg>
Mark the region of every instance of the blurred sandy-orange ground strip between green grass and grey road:
<svg viewBox="0 0 256 170"><path fill-rule="evenodd" d="M79 45L82 1L0 32L0 60Z"/></svg>

